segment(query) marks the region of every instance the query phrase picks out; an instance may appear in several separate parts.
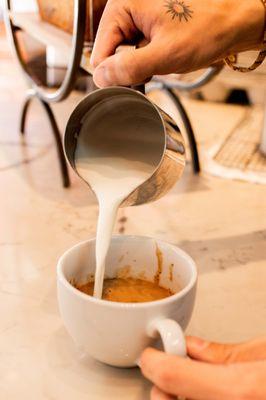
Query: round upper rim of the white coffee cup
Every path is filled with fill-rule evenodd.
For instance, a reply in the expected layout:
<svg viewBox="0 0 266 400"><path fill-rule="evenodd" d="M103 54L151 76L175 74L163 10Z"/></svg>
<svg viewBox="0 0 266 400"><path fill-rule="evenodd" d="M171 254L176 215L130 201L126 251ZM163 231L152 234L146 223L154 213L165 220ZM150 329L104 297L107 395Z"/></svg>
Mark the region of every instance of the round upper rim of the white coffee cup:
<svg viewBox="0 0 266 400"><path fill-rule="evenodd" d="M97 304L98 306L103 306L103 307L110 307L110 308L115 308L115 309L131 309L131 310L139 310L143 308L153 308L157 306L162 306L162 305L167 305L170 304L176 300L179 300L183 298L190 290L195 286L197 283L197 278L198 278L198 273L197 273L197 267L195 261L190 257L184 250L180 249L179 247L175 246L174 244L171 244L169 242L156 239L150 236L139 236L139 235L113 235L111 241L113 239L141 239L141 240L154 240L159 246L160 243L163 245L167 245L171 248L174 249L175 252L178 253L179 256L182 256L185 258L190 265L191 268L191 277L189 283L181 289L179 292L166 297L164 299L160 300L154 300L154 301L147 301L143 303L122 303L122 302L115 302L115 301L108 301L108 300L103 300L103 299L96 299L93 296L89 296L86 293L81 292L80 290L76 289L71 283L66 279L63 268L64 268L64 261L65 259L69 256L71 252L73 252L75 249L78 247L82 247L85 244L89 244L91 242L95 242L95 238L87 239L82 242L79 242L75 244L74 246L70 247L68 250L66 250L62 256L59 258L58 263L57 263L57 281L61 282L65 288L72 292L74 295L80 297L81 299L88 301L93 304Z"/></svg>

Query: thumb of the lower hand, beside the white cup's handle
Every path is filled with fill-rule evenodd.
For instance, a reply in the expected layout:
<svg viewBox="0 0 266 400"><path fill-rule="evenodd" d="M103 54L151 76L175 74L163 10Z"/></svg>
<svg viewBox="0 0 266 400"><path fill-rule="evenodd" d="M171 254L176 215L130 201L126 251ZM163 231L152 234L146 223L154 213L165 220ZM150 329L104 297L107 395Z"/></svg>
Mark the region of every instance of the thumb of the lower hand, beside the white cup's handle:
<svg viewBox="0 0 266 400"><path fill-rule="evenodd" d="M219 344L188 337L187 350L195 360L213 364L260 361L266 360L266 339L240 344Z"/></svg>

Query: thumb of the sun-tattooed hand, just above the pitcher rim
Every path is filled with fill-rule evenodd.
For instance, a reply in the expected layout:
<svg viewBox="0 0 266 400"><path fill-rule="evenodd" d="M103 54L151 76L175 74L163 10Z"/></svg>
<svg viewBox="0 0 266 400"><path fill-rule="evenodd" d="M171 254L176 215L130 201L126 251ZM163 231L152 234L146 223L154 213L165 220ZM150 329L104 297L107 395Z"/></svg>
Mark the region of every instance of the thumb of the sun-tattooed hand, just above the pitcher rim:
<svg viewBox="0 0 266 400"><path fill-rule="evenodd" d="M152 43L145 47L125 50L102 61L94 71L98 87L130 86L145 82L158 71L160 58Z"/></svg>

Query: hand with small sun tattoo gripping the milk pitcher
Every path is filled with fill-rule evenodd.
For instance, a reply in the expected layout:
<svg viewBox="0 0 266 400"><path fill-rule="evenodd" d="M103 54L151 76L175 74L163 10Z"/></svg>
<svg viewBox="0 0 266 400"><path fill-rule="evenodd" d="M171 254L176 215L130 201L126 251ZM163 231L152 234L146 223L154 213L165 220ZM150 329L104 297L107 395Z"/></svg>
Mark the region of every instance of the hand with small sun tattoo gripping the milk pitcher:
<svg viewBox="0 0 266 400"><path fill-rule="evenodd" d="M263 25L260 0L109 0L92 54L95 83L131 85L207 67L256 48ZM115 54L125 42L139 48Z"/></svg>

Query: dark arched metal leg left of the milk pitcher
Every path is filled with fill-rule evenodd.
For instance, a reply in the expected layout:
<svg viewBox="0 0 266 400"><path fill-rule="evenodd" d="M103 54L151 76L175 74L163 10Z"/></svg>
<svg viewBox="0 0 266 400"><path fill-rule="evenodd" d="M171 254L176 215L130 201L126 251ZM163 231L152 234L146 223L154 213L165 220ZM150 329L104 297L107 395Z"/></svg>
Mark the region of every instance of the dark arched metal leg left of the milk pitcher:
<svg viewBox="0 0 266 400"><path fill-rule="evenodd" d="M67 188L70 186L70 179L69 179L69 174L68 174L68 168L67 168L67 163L64 155L64 150L63 150L63 145L62 145L62 140L60 136L60 132L58 129L58 125L55 120L54 113L48 103L45 101L39 99L37 96L35 96L34 93L30 92L27 94L26 100L24 102L23 108L22 108L22 113L21 113L21 119L20 119L20 132L22 135L25 134L25 126L26 126L26 120L27 120L27 114L29 110L29 106L33 98L36 97L41 105L43 106L43 109L46 112L46 115L49 119L51 128L52 128L52 133L55 139L56 143L56 148L57 148L57 154L58 154L58 159L59 159L59 164L60 164L60 171L61 171L61 176L62 176L62 182L63 182L63 187Z"/></svg>

